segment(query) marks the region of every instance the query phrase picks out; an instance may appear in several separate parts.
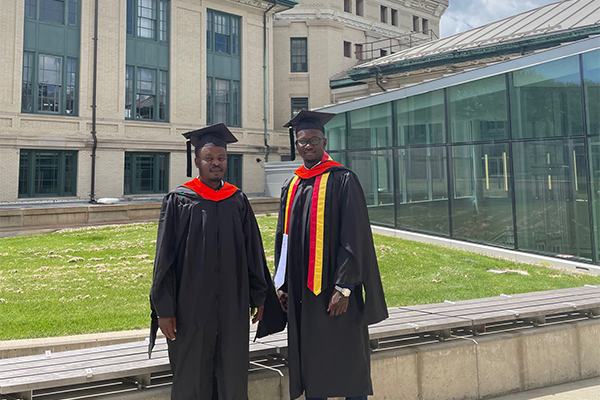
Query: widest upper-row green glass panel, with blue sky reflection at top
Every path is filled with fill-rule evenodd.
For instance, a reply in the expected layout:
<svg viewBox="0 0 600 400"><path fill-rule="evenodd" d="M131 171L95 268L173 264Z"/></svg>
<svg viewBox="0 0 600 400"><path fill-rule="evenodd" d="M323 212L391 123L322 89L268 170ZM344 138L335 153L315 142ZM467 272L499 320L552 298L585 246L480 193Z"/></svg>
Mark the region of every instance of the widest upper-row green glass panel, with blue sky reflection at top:
<svg viewBox="0 0 600 400"><path fill-rule="evenodd" d="M513 138L583 135L577 56L511 74Z"/></svg>

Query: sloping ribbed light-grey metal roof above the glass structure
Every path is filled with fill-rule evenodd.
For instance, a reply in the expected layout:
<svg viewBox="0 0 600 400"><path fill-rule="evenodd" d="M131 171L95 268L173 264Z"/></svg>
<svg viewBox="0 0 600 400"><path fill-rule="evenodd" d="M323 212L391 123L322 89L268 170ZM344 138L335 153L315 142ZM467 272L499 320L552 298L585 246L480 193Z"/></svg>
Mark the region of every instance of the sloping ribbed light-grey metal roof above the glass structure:
<svg viewBox="0 0 600 400"><path fill-rule="evenodd" d="M360 78L360 72L364 74L394 64L411 64L418 59L448 53L464 54L469 50L568 34L599 23L600 0L565 0L357 65L349 71L349 75Z"/></svg>

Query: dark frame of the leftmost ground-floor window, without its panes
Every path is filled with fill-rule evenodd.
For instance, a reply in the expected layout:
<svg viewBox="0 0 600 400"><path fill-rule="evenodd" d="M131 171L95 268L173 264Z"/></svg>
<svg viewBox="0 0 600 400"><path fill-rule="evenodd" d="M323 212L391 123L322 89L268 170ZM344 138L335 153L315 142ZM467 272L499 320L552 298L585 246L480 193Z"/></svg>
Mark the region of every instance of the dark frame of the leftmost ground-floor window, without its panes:
<svg viewBox="0 0 600 400"><path fill-rule="evenodd" d="M39 176L37 170L40 169L36 165L37 154L54 153L58 157L58 163L55 166L55 174L57 180L57 191L53 193L36 193L36 187L39 186L36 176ZM26 177L23 176L23 156L27 154ZM67 156L72 156L72 172L71 176L67 177L66 159ZM19 185L18 198L41 198L41 197L76 197L77 196L77 159L78 151L76 150L53 150L53 149L20 149L19 150ZM72 180L72 191L66 191L65 186L67 179ZM26 190L21 191L21 183L25 182Z"/></svg>

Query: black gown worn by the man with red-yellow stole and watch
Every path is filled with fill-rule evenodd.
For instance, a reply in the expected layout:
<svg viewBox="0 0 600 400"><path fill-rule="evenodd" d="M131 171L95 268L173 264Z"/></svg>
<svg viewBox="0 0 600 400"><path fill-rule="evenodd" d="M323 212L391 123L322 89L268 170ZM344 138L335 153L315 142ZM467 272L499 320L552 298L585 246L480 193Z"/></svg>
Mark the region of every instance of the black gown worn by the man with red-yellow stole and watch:
<svg viewBox="0 0 600 400"><path fill-rule="evenodd" d="M357 176L332 167L325 200L323 291L307 287L310 205L315 178L302 179L291 209L287 250L288 359L290 396L365 396L373 393L368 325L388 317L365 197ZM279 263L285 203L281 192L275 240ZM348 311L327 314L336 284L356 285Z"/></svg>

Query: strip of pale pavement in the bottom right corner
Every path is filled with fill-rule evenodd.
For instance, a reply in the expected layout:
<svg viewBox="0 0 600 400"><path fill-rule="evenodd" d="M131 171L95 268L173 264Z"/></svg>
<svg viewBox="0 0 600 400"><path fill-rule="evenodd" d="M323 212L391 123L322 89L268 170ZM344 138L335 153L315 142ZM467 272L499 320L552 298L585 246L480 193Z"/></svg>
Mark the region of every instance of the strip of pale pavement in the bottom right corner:
<svg viewBox="0 0 600 400"><path fill-rule="evenodd" d="M600 400L600 377L493 397L489 400Z"/></svg>

